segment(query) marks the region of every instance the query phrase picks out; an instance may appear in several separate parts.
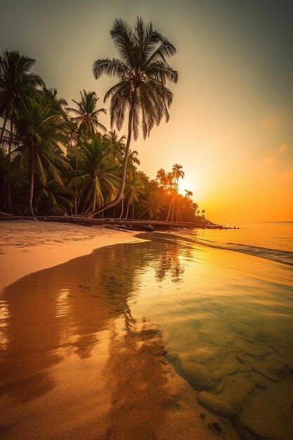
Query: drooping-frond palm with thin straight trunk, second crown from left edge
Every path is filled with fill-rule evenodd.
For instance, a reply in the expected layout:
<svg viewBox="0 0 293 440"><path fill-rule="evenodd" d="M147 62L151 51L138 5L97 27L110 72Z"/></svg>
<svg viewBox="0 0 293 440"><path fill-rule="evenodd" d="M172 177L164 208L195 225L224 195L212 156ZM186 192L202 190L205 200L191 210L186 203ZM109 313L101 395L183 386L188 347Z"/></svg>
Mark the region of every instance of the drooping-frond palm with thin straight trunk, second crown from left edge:
<svg viewBox="0 0 293 440"><path fill-rule="evenodd" d="M15 151L21 153L20 163L30 170L29 211L34 216L35 174L44 186L48 176L64 186L60 168L67 169L69 166L59 143L65 142L67 122L47 103L31 100L22 106L15 127L20 142L20 147Z"/></svg>

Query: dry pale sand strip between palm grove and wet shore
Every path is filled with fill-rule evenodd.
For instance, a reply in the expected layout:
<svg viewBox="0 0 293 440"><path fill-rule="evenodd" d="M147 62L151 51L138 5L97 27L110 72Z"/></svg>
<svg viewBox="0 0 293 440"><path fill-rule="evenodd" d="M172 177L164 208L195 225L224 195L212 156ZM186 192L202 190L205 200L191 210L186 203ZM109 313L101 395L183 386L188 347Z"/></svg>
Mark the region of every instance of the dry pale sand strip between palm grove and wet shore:
<svg viewBox="0 0 293 440"><path fill-rule="evenodd" d="M5 231L1 231L4 225L11 226L13 240L11 235L6 237ZM24 239L22 226L27 225L30 225L30 235ZM142 241L137 238L137 231L30 220L0 222L0 232L0 291L22 276L90 254L99 247Z"/></svg>

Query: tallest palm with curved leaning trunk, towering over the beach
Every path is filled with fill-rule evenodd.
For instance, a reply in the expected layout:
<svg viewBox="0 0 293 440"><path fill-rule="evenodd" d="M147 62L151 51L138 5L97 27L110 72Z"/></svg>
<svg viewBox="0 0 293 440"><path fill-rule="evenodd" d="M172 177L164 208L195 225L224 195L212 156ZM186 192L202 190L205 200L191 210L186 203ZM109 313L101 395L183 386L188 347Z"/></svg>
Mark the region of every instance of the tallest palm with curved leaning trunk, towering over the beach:
<svg viewBox="0 0 293 440"><path fill-rule="evenodd" d="M114 200L98 209L101 212L117 205L124 193L129 146L132 134L138 138L138 127L142 125L143 138L159 125L162 118L169 120L169 106L173 93L166 82L176 83L178 72L166 61L176 49L152 23L145 25L137 18L133 26L116 19L110 31L120 58L99 59L93 63L93 75L98 79L103 73L117 77L119 81L105 94L104 102L110 98L111 127L122 129L128 111L128 133L119 193Z"/></svg>

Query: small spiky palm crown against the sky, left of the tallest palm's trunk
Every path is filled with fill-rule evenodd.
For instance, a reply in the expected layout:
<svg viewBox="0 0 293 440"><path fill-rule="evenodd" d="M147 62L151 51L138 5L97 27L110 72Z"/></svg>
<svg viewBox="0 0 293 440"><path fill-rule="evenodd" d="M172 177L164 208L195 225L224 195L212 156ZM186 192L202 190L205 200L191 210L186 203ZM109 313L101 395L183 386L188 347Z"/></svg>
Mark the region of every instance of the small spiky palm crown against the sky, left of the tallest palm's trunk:
<svg viewBox="0 0 293 440"><path fill-rule="evenodd" d="M91 138L93 134L98 133L98 129L106 131L106 127L99 122L100 113L107 113L105 108L98 108L97 103L99 98L96 96L95 91L79 91L81 101L77 102L72 99L77 108L68 107L69 112L74 113L72 121L77 124L77 136L85 136Z"/></svg>

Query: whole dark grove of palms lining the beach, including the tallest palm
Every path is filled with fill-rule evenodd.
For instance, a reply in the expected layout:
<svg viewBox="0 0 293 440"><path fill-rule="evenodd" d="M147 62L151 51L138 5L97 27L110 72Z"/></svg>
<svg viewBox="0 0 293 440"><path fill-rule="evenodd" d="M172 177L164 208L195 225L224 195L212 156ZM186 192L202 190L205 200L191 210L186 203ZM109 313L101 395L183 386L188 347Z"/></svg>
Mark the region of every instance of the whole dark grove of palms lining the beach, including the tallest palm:
<svg viewBox="0 0 293 440"><path fill-rule="evenodd" d="M100 123L100 114L107 110L100 108L94 91L81 91L70 108L32 72L34 60L18 51L2 53L1 212L168 221L194 221L200 215L193 193L178 193L178 181L184 177L181 165L174 164L170 172L159 169L150 180L138 169L137 151L129 149L140 127L145 137L162 117L169 118L173 95L165 83L176 82L177 72L165 58L175 49L141 19L134 27L116 20L111 35L121 59L93 65L97 78L103 72L119 77L105 96L111 98L111 131ZM136 50L138 40L144 42L144 53ZM113 129L122 129L126 110L127 138Z"/></svg>

